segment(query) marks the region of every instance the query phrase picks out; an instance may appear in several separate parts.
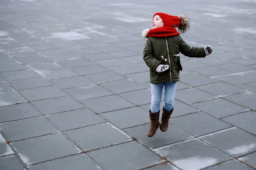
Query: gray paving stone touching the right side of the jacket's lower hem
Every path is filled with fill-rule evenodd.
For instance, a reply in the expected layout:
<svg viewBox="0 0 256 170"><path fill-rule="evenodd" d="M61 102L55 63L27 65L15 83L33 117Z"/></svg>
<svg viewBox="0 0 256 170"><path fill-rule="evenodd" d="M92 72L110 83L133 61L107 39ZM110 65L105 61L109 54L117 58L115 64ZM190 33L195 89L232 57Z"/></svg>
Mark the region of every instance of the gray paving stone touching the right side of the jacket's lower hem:
<svg viewBox="0 0 256 170"><path fill-rule="evenodd" d="M210 83L218 82L216 79L202 76L200 74L193 74L189 76L180 77L180 82L186 83L191 86L207 85Z"/></svg>

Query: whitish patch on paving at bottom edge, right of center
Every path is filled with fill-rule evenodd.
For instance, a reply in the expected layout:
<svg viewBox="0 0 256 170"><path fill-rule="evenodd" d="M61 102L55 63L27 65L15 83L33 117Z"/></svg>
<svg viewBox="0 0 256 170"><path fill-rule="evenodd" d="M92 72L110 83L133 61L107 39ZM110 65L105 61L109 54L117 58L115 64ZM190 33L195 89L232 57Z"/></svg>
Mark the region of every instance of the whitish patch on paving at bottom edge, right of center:
<svg viewBox="0 0 256 170"><path fill-rule="evenodd" d="M193 156L186 159L172 161L177 167L184 170L199 170L218 163L218 159L212 157Z"/></svg>

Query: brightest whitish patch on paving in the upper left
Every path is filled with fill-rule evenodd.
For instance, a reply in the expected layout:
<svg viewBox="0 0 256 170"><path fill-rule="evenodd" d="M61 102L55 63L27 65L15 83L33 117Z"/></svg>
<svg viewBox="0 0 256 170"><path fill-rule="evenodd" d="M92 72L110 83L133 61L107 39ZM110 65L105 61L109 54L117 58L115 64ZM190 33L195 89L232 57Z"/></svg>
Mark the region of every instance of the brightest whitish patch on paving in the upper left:
<svg viewBox="0 0 256 170"><path fill-rule="evenodd" d="M56 33L52 33L53 37L55 38L61 38L61 39L65 39L65 40L81 40L81 39L90 39L91 37L79 34L77 32L56 32Z"/></svg>

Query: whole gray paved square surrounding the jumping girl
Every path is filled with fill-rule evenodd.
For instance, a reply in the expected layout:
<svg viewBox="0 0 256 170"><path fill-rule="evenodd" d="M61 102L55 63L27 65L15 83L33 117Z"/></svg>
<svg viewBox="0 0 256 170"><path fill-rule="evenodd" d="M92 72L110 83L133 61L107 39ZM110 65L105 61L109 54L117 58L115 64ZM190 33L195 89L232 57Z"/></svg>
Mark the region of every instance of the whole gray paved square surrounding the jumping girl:
<svg viewBox="0 0 256 170"><path fill-rule="evenodd" d="M256 169L255 0L0 4L1 168ZM214 50L180 53L169 129L148 138L141 31L158 11L185 13L183 40Z"/></svg>

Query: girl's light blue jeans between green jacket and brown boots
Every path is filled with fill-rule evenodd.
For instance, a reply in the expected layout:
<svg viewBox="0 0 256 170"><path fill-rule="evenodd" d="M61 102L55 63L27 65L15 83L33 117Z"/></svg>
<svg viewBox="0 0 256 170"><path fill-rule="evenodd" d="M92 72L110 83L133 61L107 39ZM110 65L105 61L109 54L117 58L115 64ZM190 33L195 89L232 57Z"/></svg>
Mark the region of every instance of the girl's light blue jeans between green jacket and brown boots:
<svg viewBox="0 0 256 170"><path fill-rule="evenodd" d="M172 111L177 82L162 82L159 84L151 83L151 113L156 113L160 110L163 85L165 88L163 107L166 109L166 111Z"/></svg>

